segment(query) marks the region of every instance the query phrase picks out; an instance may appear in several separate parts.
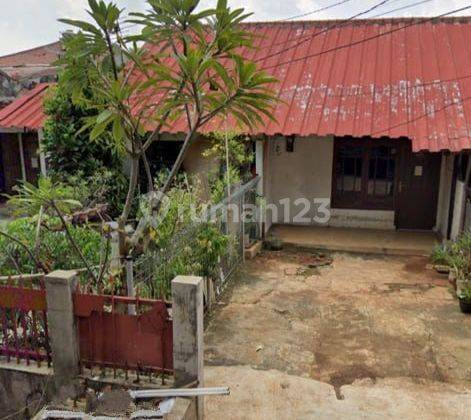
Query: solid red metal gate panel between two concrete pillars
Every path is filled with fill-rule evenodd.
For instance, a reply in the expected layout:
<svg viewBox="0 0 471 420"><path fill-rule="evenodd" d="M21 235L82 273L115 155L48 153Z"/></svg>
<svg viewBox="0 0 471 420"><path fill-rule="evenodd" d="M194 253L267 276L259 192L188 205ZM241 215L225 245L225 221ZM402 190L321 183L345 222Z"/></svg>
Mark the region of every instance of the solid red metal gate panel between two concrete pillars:
<svg viewBox="0 0 471 420"><path fill-rule="evenodd" d="M168 304L121 296L74 294L82 367L173 372ZM129 314L132 307L136 315Z"/></svg>

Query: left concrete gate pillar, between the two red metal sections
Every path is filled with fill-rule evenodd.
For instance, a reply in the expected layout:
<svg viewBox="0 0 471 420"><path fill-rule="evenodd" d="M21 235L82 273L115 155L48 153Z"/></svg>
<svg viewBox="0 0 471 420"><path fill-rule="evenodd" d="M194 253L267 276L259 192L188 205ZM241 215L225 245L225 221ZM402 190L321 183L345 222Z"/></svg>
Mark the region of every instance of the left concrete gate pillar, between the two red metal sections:
<svg viewBox="0 0 471 420"><path fill-rule="evenodd" d="M75 271L54 271L46 276L47 321L52 350L54 382L61 397L74 397L79 374L79 347L72 293Z"/></svg>

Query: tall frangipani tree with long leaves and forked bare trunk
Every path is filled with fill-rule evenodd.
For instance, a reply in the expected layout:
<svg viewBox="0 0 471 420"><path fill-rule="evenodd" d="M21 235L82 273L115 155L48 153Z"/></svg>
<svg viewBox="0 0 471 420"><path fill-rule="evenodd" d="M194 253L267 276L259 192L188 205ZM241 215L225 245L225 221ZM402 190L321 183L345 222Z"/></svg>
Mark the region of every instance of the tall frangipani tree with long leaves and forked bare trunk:
<svg viewBox="0 0 471 420"><path fill-rule="evenodd" d="M84 123L92 128L91 140L108 139L130 162L121 225L129 218L140 164L153 188L146 151L169 126L178 122L185 137L162 193L205 124L229 117L253 129L272 119L276 101L276 80L241 55L253 48L253 36L240 26L249 16L243 9L232 10L227 0L206 10L198 8L199 0L147 4L147 12L126 19L114 3L89 0L92 23L62 20L78 30L64 37L62 85L74 101L96 111ZM123 22L140 25L141 33L124 36Z"/></svg>

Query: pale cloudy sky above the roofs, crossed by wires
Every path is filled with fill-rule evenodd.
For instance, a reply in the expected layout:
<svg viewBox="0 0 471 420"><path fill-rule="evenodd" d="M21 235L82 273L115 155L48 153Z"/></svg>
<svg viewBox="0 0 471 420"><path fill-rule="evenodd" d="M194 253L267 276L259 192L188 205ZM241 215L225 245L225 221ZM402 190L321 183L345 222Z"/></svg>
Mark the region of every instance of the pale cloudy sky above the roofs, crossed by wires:
<svg viewBox="0 0 471 420"><path fill-rule="evenodd" d="M305 16L304 19L348 18L379 3L380 0L348 0L329 10ZM384 5L363 17L421 0L387 0ZM422 0L424 1L424 0ZM0 56L57 41L66 28L57 20L67 17L86 19L87 0L0 0ZM126 11L146 9L145 0L114 0ZM201 6L213 6L216 0L201 0ZM279 20L332 5L339 0L229 0L233 7L243 7L253 13L249 20ZM423 4L387 14L392 16L435 16L471 5L470 0L425 0ZM471 15L471 9L461 13Z"/></svg>

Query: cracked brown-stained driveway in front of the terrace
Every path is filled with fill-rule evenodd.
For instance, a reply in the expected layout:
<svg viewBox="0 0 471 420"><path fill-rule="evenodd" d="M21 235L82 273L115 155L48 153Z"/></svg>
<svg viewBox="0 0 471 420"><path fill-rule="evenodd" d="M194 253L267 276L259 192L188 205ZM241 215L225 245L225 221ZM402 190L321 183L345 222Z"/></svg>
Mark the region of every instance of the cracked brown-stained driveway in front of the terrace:
<svg viewBox="0 0 471 420"><path fill-rule="evenodd" d="M337 387L399 377L471 384L471 318L425 259L336 253L310 268L318 256L249 261L207 328L207 362Z"/></svg>

